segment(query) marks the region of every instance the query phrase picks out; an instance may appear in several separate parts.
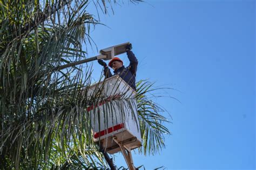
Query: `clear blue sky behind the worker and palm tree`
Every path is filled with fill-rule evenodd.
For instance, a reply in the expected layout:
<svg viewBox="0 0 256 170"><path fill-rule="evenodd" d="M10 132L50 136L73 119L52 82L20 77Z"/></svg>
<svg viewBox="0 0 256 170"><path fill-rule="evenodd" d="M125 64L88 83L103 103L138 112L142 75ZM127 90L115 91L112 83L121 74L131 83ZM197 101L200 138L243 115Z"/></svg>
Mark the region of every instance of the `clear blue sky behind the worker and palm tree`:
<svg viewBox="0 0 256 170"><path fill-rule="evenodd" d="M157 100L173 118L166 148L133 154L136 166L255 169L255 16L250 0L155 0L114 5L114 15L101 17L109 28L91 33L98 49L131 42L137 80L181 91L169 91L181 104ZM97 79L102 67L93 66ZM115 164L126 166L122 155Z"/></svg>

